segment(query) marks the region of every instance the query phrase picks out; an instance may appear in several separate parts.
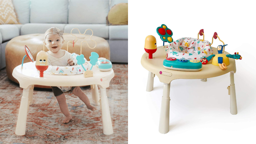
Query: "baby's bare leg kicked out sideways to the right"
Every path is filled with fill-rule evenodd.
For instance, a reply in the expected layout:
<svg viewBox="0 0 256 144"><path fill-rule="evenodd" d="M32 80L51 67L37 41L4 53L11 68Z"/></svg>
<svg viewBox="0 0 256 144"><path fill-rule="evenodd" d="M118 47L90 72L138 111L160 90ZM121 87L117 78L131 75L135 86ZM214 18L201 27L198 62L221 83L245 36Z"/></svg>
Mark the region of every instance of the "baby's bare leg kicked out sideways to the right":
<svg viewBox="0 0 256 144"><path fill-rule="evenodd" d="M72 89L71 89L72 90ZM86 94L81 90L80 87L75 87L72 90L72 93L76 96L78 96L78 98L80 98L84 104L87 106L88 109L90 109L91 111L97 110L96 107L93 107L90 103L89 98L86 96Z"/></svg>

